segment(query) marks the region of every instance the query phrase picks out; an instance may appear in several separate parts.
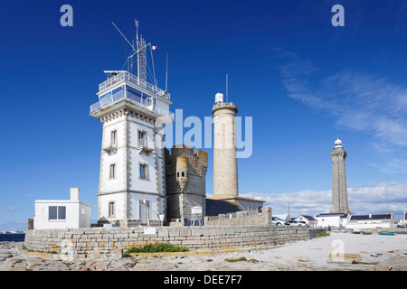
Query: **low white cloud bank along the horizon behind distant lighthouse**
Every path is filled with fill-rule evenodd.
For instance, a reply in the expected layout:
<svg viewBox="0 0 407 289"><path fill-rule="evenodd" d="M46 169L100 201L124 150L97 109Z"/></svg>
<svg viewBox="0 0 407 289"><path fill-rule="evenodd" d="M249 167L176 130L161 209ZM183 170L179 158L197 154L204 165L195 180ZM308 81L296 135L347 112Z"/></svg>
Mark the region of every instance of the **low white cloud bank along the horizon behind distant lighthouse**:
<svg viewBox="0 0 407 289"><path fill-rule="evenodd" d="M354 215L372 213L401 214L407 211L407 182L380 182L371 187L348 188L349 210ZM242 197L266 200L275 214L288 213L291 217L300 214L314 216L329 212L331 191L295 191L285 193L249 192Z"/></svg>

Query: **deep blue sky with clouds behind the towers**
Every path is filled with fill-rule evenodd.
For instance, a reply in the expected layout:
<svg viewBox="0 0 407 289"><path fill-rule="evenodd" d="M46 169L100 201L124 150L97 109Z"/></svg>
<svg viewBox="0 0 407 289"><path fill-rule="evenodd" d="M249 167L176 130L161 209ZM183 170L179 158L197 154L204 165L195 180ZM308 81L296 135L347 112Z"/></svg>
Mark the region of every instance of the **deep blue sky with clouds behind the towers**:
<svg viewBox="0 0 407 289"><path fill-rule="evenodd" d="M65 4L73 27L60 24ZM344 27L331 24L336 4ZM25 229L34 200L71 187L97 219L101 124L89 107L103 70L126 60L111 23L132 38L135 18L158 47L161 88L169 54L172 111L210 117L229 75L229 99L253 117L241 195L276 213L329 210L338 135L350 210L407 210L406 1L15 1L0 9L0 230Z"/></svg>

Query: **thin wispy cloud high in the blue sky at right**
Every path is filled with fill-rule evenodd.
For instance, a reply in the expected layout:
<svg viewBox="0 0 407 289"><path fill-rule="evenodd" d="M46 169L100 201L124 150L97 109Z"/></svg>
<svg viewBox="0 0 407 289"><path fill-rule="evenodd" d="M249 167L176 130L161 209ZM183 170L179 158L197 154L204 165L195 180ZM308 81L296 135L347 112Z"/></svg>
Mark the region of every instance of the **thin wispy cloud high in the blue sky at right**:
<svg viewBox="0 0 407 289"><path fill-rule="evenodd" d="M384 173L405 173L407 154L407 87L360 70L322 75L312 61L275 51L287 59L280 68L289 98L297 99L318 113L336 118L336 125L374 135L374 147L384 163ZM315 72L321 72L316 77Z"/></svg>

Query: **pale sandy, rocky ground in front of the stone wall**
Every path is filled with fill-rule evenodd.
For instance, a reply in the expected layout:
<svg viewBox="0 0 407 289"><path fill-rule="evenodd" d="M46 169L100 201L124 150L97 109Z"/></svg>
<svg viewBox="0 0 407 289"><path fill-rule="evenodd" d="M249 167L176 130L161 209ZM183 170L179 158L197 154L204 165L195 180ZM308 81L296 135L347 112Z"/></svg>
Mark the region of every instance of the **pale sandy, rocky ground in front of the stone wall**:
<svg viewBox="0 0 407 289"><path fill-rule="evenodd" d="M337 232L328 237L262 250L194 256L135 256L117 260L49 260L24 256L21 245L0 243L0 271L407 270L407 235L402 234L381 236Z"/></svg>

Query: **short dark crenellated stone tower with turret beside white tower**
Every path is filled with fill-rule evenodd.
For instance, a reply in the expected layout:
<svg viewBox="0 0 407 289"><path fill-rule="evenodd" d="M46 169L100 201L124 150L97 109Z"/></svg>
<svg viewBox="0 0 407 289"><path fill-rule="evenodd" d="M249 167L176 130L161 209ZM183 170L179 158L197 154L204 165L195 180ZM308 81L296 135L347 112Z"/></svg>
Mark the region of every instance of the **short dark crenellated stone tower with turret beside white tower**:
<svg viewBox="0 0 407 289"><path fill-rule="evenodd" d="M191 208L206 210L205 180L208 153L189 145L176 145L166 154L167 219L191 219Z"/></svg>

